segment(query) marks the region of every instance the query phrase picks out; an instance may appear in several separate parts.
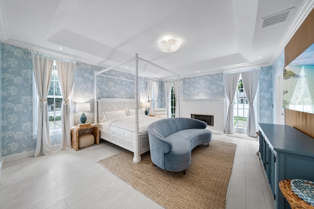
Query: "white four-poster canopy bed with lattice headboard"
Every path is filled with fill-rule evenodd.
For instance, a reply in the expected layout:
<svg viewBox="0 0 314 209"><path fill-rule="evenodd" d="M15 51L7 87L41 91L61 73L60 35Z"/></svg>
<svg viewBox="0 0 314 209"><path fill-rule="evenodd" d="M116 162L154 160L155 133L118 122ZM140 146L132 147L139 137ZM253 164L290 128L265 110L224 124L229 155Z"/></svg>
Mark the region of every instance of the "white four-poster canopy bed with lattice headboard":
<svg viewBox="0 0 314 209"><path fill-rule="evenodd" d="M107 75L103 75L102 73L104 73L105 71L108 70L113 70L115 68L118 68L119 66L122 65L126 65L132 61L135 61L135 81L133 80L129 80L129 81L133 81L135 82L135 98L134 99L120 99L120 101L118 99L109 99L109 98L102 98L102 99L97 99L97 76L104 76L104 77L111 77L112 76L107 76ZM134 157L133 157L133 162L134 163L139 163L141 161L141 154L148 151L149 150L149 142L148 142L148 133L147 133L147 127L148 125L153 122L156 121L158 119L161 118L154 118L154 117L150 117L150 116L139 116L140 110L139 110L139 80L138 80L138 62L142 61L145 62L149 65L152 65L158 69L161 70L165 70L167 72L170 72L174 75L178 75L179 80L180 80L180 75L178 73L174 73L171 70L168 70L164 67L161 67L155 63L152 63L150 61L147 61L145 59L142 59L140 57L138 57L138 54L135 54L135 57L133 57L130 60L124 61L118 65L115 66L111 66L109 68L106 68L104 70L95 72L95 118L94 121L96 124L99 124L99 129L100 129L100 138L101 139L105 139L107 141L110 141L111 143L114 143L118 146L121 146L125 149L130 150L131 152L134 153ZM116 78L116 79L122 79L122 78ZM160 79L160 78L158 78ZM122 79L122 80L128 80L128 79ZM148 81L148 80L146 80ZM146 82L145 81L145 82ZM180 95L179 95L180 97ZM180 104L179 104L180 105ZM180 109L180 106L178 107ZM109 125L108 123L113 124L112 120L118 120L121 121L121 117L123 114L121 114L120 112L116 112L116 111L121 111L121 110L130 110L133 111L133 127L130 128L128 127L129 132L132 133L131 134L131 139L130 136L129 137L125 137L123 134L118 134L118 131L116 130L112 130L109 129ZM103 115L103 113L105 114L109 114L109 111L113 111L115 116L115 119L109 119L108 121L104 121L104 122L99 122L99 118L101 117L101 115ZM119 115L121 114L121 115ZM112 114L111 114L112 115ZM180 116L179 116L180 117ZM139 118L141 120L139 120ZM143 122L143 120L145 120L145 122ZM117 122L117 121L115 121ZM115 125L113 125L115 126ZM108 128L108 129L107 129ZM123 128L123 129L127 129L127 128ZM132 130L131 130L132 129Z"/></svg>

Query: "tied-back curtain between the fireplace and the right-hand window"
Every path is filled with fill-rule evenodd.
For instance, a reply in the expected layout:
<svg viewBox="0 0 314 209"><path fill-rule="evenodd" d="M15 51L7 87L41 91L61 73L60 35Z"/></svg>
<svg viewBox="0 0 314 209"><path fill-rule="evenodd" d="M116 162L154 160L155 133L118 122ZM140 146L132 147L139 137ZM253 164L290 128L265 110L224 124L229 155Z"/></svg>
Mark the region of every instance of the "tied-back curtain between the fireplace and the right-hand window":
<svg viewBox="0 0 314 209"><path fill-rule="evenodd" d="M227 97L229 99L229 109L225 125L225 132L228 134L234 133L234 100L235 91L237 89L240 73L224 74L224 83Z"/></svg>

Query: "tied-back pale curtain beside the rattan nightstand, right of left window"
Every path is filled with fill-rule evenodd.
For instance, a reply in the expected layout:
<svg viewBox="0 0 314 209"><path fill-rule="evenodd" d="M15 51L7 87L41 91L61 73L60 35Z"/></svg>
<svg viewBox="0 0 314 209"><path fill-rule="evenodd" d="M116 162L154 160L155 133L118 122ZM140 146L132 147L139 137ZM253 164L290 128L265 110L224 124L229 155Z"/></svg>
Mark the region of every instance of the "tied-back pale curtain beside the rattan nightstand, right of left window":
<svg viewBox="0 0 314 209"><path fill-rule="evenodd" d="M75 63L55 60L62 93L60 150L71 148L70 95L73 89Z"/></svg>

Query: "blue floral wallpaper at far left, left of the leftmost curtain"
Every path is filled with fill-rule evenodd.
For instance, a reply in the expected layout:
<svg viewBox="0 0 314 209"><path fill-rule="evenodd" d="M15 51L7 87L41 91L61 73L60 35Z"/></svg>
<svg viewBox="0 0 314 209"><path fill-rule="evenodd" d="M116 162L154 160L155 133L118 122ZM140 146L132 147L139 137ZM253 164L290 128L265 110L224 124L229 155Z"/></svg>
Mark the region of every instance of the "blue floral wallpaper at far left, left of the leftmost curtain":
<svg viewBox="0 0 314 209"><path fill-rule="evenodd" d="M30 51L1 45L2 156L35 149Z"/></svg>

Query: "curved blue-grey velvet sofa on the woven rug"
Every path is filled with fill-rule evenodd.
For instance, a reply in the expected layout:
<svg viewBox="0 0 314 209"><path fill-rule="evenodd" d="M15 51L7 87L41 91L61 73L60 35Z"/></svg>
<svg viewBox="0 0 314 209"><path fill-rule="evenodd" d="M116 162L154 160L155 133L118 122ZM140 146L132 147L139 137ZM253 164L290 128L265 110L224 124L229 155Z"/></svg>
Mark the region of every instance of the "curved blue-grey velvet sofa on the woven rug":
<svg viewBox="0 0 314 209"><path fill-rule="evenodd" d="M173 117L148 126L152 162L167 171L183 171L191 164L191 151L211 141L211 131L204 121Z"/></svg>

